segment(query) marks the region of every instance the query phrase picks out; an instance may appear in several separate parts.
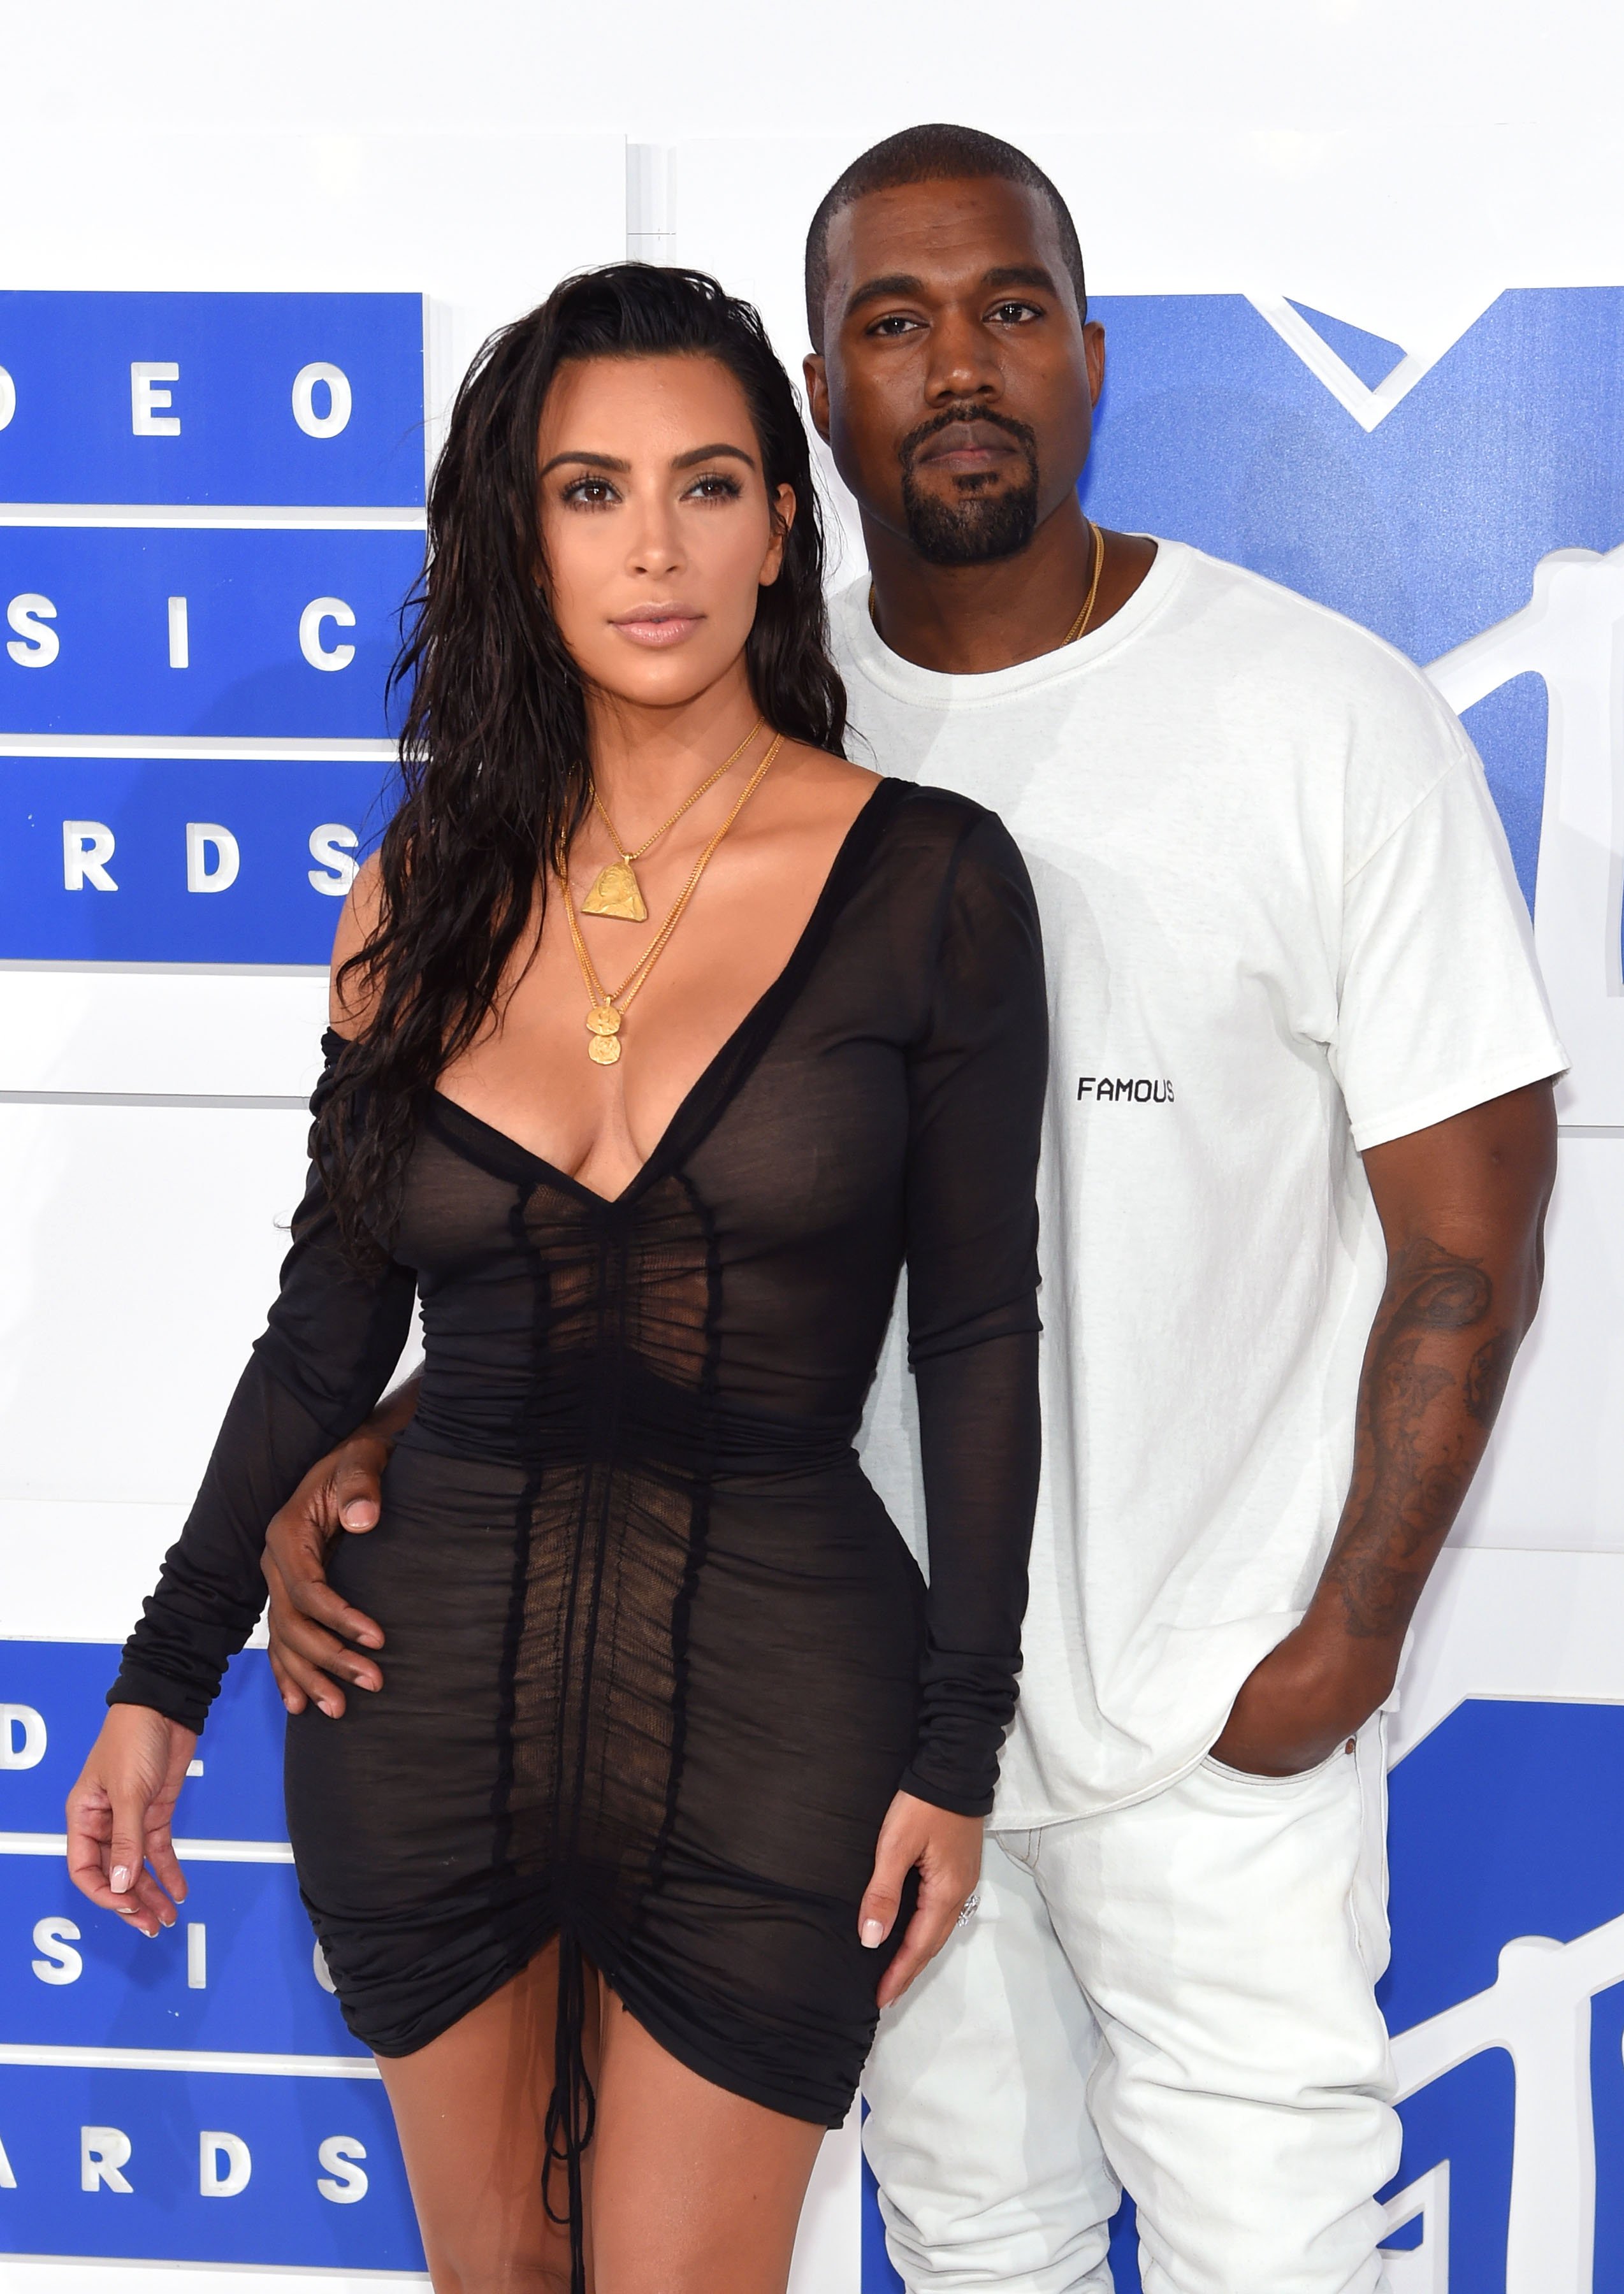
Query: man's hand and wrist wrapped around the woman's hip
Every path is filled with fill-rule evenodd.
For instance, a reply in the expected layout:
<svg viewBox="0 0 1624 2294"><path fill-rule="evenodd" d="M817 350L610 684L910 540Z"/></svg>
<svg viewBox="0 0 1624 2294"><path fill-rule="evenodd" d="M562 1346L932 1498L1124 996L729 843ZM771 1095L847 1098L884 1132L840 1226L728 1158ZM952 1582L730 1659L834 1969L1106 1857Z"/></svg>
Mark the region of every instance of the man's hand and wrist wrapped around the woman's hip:
<svg viewBox="0 0 1624 2294"><path fill-rule="evenodd" d="M287 1505L271 1516L261 1569L271 1587L271 1670L291 1714L317 1704L330 1720L344 1711L344 1688L383 1688L383 1672L360 1649L381 1649L383 1629L328 1585L328 1553L339 1530L376 1530L383 1468L417 1409L422 1370L413 1370L372 1418L310 1468Z"/></svg>

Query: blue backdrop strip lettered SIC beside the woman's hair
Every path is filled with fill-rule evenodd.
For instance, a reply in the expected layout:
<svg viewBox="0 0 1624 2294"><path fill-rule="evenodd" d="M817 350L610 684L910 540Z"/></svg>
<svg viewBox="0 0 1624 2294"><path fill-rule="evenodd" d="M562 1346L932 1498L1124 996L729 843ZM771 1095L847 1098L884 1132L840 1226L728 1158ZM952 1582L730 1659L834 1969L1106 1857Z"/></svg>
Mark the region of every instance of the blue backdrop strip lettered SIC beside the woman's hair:
<svg viewBox="0 0 1624 2294"><path fill-rule="evenodd" d="M376 739L420 567L417 532L0 528L0 732Z"/></svg>

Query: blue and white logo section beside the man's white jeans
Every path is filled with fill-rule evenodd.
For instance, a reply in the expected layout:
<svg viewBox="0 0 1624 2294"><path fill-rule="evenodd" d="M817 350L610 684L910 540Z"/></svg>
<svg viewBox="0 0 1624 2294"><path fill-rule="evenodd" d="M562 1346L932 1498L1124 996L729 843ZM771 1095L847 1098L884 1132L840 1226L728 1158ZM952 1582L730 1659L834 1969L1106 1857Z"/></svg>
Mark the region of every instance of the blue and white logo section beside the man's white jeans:
<svg viewBox="0 0 1624 2294"><path fill-rule="evenodd" d="M1392 1771L1390 2294L1624 2287L1624 1707L1468 1700Z"/></svg>

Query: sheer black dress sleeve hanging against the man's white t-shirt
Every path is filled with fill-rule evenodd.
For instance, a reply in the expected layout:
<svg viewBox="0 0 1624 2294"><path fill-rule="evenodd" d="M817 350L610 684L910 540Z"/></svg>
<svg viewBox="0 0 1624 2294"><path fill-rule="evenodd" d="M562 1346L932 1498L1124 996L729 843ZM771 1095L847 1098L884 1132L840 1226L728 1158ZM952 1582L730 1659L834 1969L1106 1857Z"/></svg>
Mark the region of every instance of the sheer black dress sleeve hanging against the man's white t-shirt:
<svg viewBox="0 0 1624 2294"><path fill-rule="evenodd" d="M911 1062L908 1360L931 1585L904 1792L993 1805L1016 1702L1037 1509L1037 1142L1048 1009L1037 906L984 814L945 892L929 1028Z"/></svg>

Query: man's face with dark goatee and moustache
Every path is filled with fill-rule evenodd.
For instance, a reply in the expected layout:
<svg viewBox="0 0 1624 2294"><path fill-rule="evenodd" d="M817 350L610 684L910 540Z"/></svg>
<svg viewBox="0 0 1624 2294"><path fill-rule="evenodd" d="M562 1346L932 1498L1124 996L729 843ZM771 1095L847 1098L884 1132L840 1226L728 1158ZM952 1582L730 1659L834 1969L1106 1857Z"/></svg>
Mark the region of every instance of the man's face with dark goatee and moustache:
<svg viewBox="0 0 1624 2294"><path fill-rule="evenodd" d="M812 422L865 516L929 564L1025 548L1083 475L1106 372L1048 202L996 177L856 200L823 328Z"/></svg>

